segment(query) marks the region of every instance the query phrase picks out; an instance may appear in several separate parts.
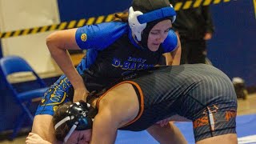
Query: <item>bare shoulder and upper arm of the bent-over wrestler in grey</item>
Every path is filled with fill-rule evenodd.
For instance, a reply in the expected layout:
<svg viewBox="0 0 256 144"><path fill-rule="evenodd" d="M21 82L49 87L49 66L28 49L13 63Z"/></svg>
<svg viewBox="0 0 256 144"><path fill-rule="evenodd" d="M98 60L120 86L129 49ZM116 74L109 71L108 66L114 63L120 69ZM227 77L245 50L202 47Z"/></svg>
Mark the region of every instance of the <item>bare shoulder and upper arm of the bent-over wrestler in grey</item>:
<svg viewBox="0 0 256 144"><path fill-rule="evenodd" d="M118 128L133 120L138 110L133 86L122 84L110 90L98 104L90 143L114 143Z"/></svg>

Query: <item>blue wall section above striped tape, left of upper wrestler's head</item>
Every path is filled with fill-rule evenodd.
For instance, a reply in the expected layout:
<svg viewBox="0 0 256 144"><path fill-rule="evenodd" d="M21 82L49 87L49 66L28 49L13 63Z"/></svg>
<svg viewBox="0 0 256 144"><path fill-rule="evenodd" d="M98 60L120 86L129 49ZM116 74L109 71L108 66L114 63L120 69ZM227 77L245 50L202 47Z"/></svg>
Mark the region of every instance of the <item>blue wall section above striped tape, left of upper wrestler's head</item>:
<svg viewBox="0 0 256 144"><path fill-rule="evenodd" d="M62 22L82 18L97 17L126 10L131 0L95 1L95 0L58 0L58 10Z"/></svg>

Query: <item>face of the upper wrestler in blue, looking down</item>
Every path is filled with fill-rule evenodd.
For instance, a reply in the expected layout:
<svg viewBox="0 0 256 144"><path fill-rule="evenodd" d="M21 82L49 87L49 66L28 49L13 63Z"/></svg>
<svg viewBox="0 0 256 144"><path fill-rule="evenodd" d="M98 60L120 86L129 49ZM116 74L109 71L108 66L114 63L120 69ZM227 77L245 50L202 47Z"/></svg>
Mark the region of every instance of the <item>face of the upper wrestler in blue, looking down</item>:
<svg viewBox="0 0 256 144"><path fill-rule="evenodd" d="M160 44L167 38L171 28L170 19L158 22L151 30L147 40L147 46L151 51L157 51Z"/></svg>

